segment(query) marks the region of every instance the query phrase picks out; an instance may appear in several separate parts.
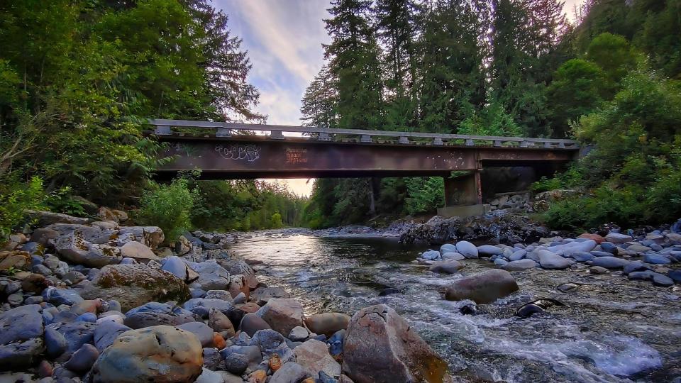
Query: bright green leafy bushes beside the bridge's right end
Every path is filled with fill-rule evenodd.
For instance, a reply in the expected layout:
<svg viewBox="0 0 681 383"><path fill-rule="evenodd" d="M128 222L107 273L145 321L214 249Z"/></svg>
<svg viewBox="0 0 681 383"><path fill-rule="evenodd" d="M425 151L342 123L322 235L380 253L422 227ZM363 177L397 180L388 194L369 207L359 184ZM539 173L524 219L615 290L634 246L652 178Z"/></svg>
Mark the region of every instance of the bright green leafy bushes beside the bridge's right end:
<svg viewBox="0 0 681 383"><path fill-rule="evenodd" d="M680 126L679 84L647 70L631 72L612 101L576 126L577 137L595 145L571 171L572 185L579 178L587 195L551 206L547 222L557 228L589 228L681 216Z"/></svg>

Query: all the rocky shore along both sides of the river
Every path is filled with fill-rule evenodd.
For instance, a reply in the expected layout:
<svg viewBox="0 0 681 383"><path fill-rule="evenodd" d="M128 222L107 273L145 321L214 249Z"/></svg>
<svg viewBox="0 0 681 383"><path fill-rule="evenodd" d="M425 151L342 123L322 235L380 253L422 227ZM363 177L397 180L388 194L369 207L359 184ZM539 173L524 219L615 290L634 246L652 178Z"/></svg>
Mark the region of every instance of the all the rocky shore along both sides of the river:
<svg viewBox="0 0 681 383"><path fill-rule="evenodd" d="M12 235L0 250L0 382L452 380L446 355L433 351L393 307L377 302L354 313L309 313L289 286L272 278L267 286L253 268L262 272L266 265L228 250L250 235L444 242L409 267L448 276L439 299L457 301L463 316L523 295L523 278L532 270L586 271L670 293L681 283L680 225L562 238L526 218L494 213L400 222L381 231L196 231L166 247L160 228L126 226L121 211L101 209L100 221L33 214L39 227ZM492 268L467 269L467 262L480 260ZM556 289L579 288L563 283ZM391 294L401 292L381 293ZM563 306L546 297L520 301L519 318Z"/></svg>

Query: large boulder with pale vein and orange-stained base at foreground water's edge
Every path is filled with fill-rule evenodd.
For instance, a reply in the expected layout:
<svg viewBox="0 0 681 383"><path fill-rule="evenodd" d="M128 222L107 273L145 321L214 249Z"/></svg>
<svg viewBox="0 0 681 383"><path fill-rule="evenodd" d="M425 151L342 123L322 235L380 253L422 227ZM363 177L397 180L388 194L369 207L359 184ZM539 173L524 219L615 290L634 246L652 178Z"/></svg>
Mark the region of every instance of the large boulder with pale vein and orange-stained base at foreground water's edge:
<svg viewBox="0 0 681 383"><path fill-rule="evenodd" d="M448 377L447 363L384 304L355 313L343 353L343 373L355 383L439 383Z"/></svg>

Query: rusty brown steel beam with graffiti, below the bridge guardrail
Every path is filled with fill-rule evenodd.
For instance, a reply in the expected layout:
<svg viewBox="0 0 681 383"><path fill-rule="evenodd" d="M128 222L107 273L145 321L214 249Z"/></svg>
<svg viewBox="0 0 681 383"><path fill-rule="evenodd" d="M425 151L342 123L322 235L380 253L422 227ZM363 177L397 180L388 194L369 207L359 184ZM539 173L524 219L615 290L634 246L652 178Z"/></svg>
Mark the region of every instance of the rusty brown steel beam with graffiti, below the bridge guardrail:
<svg viewBox="0 0 681 383"><path fill-rule="evenodd" d="M453 170L480 170L485 165L569 162L577 150L338 143L272 140L258 136L196 138L168 136L162 157L176 159L157 170L157 177L201 170L204 179L309 177L446 177Z"/></svg>

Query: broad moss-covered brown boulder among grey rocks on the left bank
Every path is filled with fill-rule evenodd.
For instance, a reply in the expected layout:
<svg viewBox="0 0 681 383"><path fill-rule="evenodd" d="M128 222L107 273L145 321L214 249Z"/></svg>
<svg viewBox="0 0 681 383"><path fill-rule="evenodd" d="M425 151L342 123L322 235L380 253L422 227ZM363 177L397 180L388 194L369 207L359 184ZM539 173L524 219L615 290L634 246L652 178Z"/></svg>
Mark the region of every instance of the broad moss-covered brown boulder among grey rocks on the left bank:
<svg viewBox="0 0 681 383"><path fill-rule="evenodd" d="M85 299L115 299L124 311L150 301L189 299L189 287L170 272L146 265L109 265L83 290Z"/></svg>

